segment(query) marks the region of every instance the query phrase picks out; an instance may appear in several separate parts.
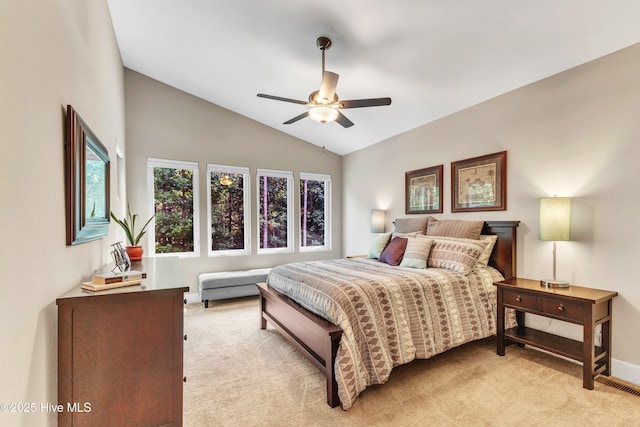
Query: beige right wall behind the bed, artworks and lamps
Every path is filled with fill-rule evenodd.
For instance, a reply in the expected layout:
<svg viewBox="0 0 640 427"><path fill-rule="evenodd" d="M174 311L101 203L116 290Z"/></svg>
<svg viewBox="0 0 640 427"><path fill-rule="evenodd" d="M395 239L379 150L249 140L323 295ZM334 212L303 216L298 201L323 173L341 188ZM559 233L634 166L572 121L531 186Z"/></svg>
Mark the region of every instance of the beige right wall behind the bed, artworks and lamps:
<svg viewBox="0 0 640 427"><path fill-rule="evenodd" d="M372 208L404 217L404 173L444 164L440 218L520 220L518 275L551 275L552 244L538 240L538 199L571 196L571 242L558 243L558 276L615 290L614 375L640 383L640 45L499 96L344 158L344 252L366 250ZM450 163L507 150L501 212L451 213ZM372 165L384 165L384 167ZM540 320L540 319L538 319ZM578 333L538 322L542 329Z"/></svg>

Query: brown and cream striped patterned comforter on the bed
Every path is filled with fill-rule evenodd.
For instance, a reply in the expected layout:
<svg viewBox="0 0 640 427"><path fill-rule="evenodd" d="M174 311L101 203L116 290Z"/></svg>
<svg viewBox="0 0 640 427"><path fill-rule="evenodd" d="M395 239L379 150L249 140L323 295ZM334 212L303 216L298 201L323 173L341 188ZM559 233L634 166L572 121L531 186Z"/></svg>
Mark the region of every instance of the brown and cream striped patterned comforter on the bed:
<svg viewBox="0 0 640 427"><path fill-rule="evenodd" d="M385 383L393 367L494 335L498 280L491 267L463 276L369 259L285 264L267 278L342 328L335 375L345 410L367 386Z"/></svg>

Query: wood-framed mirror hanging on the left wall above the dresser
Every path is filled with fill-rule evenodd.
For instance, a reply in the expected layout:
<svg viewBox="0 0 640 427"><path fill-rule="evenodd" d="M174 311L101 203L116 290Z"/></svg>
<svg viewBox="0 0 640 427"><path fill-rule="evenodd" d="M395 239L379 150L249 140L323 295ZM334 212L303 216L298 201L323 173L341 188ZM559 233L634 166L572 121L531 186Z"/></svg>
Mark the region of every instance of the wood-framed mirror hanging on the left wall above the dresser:
<svg viewBox="0 0 640 427"><path fill-rule="evenodd" d="M67 105L65 185L67 245L109 232L109 153L71 105Z"/></svg>

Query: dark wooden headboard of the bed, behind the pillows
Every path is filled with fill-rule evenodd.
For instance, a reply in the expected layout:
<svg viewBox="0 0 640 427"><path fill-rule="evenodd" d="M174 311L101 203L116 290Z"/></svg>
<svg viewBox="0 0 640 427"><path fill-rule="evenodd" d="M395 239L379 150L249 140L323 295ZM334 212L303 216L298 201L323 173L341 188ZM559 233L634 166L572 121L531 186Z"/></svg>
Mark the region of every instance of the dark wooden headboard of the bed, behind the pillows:
<svg viewBox="0 0 640 427"><path fill-rule="evenodd" d="M486 221L482 234L498 236L489 265L502 273L505 279L516 277L517 228L520 221Z"/></svg>

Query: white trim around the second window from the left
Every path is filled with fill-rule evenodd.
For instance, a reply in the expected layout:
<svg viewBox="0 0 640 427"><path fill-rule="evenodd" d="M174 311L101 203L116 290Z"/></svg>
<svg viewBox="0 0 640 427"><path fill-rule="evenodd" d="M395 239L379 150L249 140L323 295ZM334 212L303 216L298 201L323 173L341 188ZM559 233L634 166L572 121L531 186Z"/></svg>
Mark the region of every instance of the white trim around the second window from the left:
<svg viewBox="0 0 640 427"><path fill-rule="evenodd" d="M242 174L244 204L244 249L211 249L211 173ZM207 164L207 256L251 255L251 174L248 167Z"/></svg>

